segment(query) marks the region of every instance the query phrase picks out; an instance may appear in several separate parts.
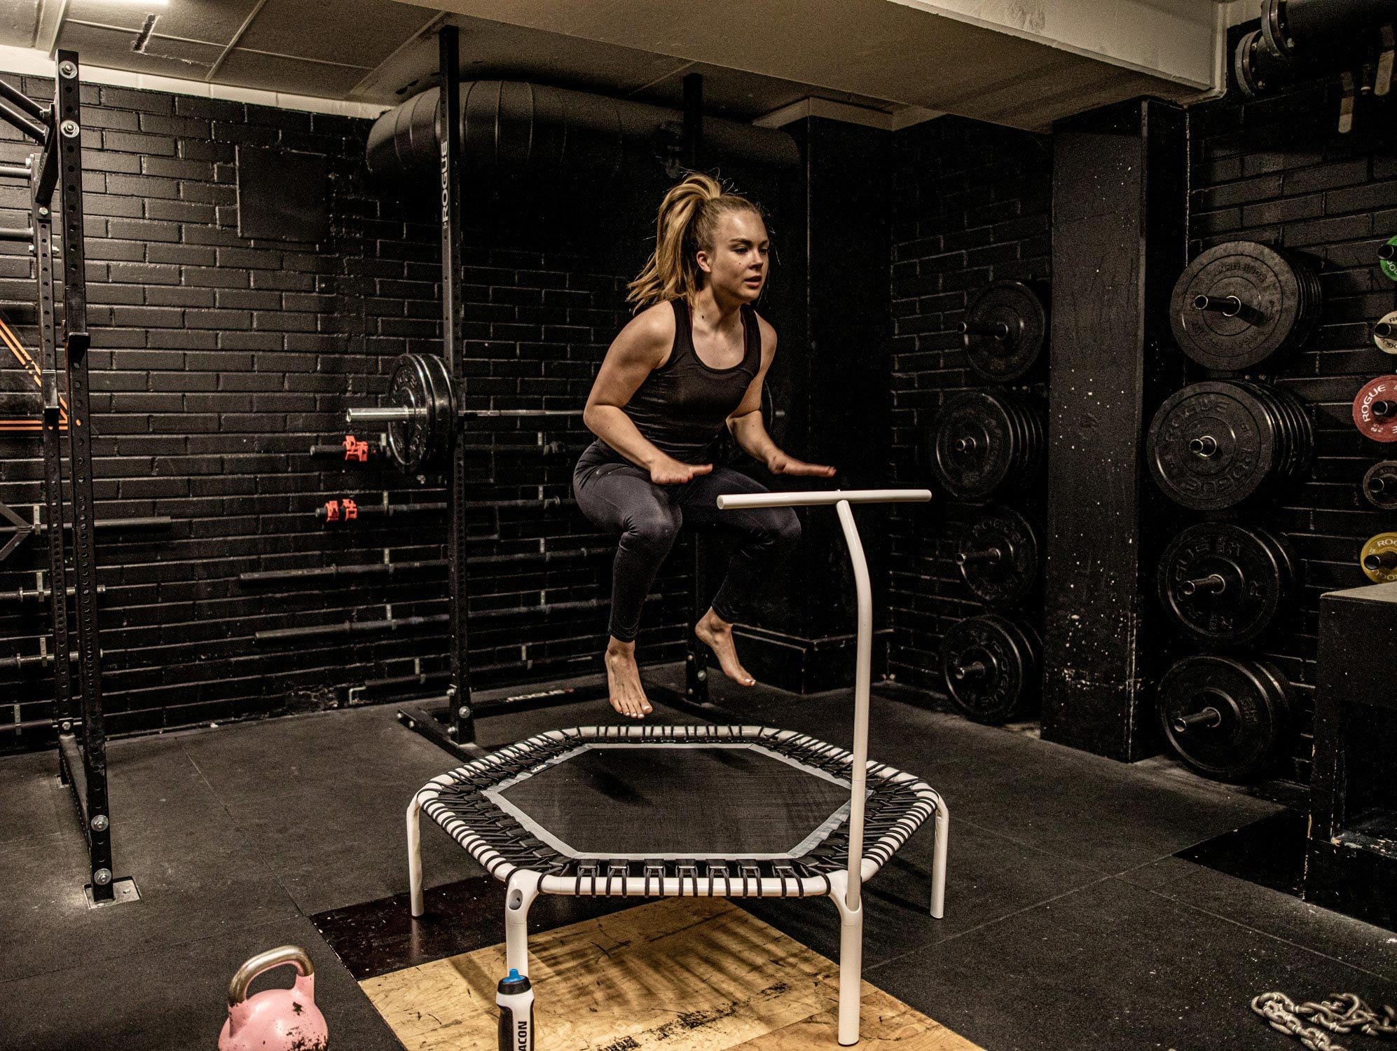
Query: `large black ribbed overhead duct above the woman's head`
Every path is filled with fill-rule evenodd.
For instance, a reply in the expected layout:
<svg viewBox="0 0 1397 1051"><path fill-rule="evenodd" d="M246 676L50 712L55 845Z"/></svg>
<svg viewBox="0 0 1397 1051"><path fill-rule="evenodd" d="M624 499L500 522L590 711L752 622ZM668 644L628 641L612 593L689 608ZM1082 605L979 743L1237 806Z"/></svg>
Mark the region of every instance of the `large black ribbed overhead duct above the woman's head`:
<svg viewBox="0 0 1397 1051"><path fill-rule="evenodd" d="M365 150L374 177L418 183L440 171L440 94L429 88L374 122ZM521 81L461 84L462 176L474 182L566 176L602 189L678 164L682 136L678 109ZM777 129L705 117L703 136L712 157L777 168L800 162L795 140Z"/></svg>

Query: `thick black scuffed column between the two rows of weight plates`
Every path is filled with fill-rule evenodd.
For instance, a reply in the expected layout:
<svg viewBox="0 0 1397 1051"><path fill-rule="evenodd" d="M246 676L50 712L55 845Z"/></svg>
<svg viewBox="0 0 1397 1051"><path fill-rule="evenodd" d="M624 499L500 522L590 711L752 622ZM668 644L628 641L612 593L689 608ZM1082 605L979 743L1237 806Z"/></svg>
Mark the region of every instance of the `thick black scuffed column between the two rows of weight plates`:
<svg viewBox="0 0 1397 1051"><path fill-rule="evenodd" d="M1187 254L1183 110L1122 102L1053 127L1045 741L1158 751L1148 553L1162 499L1144 432L1182 384L1169 289Z"/></svg>

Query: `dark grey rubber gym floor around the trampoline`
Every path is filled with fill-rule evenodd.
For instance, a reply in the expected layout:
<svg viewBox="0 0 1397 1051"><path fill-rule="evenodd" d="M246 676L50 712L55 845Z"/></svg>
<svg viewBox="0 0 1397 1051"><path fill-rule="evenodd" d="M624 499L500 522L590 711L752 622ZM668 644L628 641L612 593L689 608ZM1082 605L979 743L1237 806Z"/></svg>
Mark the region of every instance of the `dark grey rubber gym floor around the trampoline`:
<svg viewBox="0 0 1397 1051"><path fill-rule="evenodd" d="M715 700L752 723L851 742L847 690L719 683ZM683 721L673 714L652 718ZM481 723L481 742L613 718L601 702L500 716ZM316 962L331 1047L398 1048L356 977L503 941L500 885L430 823L436 890L416 932L408 921L404 809L455 763L391 706L122 739L109 756L117 874L141 900L99 910L84 900L84 846L53 755L0 760L7 1051L212 1047L237 964L286 942ZM979 1047L1287 1048L1296 1044L1252 1013L1252 996L1397 999L1389 932L1175 857L1282 812L1274 799L1164 759L1125 766L975 725L888 686L875 697L870 758L944 795L951 851L942 921L926 914L929 829L868 885L865 980ZM828 901L738 904L837 956ZM545 896L532 925L616 907ZM692 1045L726 1045L703 1037Z"/></svg>

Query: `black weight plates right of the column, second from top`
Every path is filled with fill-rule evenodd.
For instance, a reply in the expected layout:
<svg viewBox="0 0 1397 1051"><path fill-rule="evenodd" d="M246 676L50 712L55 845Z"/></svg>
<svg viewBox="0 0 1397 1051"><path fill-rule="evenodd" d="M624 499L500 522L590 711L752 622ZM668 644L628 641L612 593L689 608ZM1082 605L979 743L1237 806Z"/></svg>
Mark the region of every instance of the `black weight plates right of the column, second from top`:
<svg viewBox="0 0 1397 1051"><path fill-rule="evenodd" d="M1289 391L1210 380L1165 400L1150 423L1146 456L1172 500L1220 510L1305 479L1315 435Z"/></svg>

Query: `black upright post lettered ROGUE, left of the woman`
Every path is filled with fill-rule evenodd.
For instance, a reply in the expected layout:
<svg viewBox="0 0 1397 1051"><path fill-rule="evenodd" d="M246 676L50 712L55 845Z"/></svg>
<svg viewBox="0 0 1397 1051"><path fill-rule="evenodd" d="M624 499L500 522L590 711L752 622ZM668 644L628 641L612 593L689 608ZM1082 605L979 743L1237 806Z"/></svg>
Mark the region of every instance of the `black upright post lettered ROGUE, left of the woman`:
<svg viewBox="0 0 1397 1051"><path fill-rule="evenodd" d="M454 25L437 34L441 64L441 356L451 370L451 384L460 409L465 398L465 300L461 289L461 46ZM465 555L465 443L461 416L451 429L451 485L447 496L450 534L446 555L451 580L451 686L450 734L458 745L475 741L471 709L471 662L467 630Z"/></svg>

